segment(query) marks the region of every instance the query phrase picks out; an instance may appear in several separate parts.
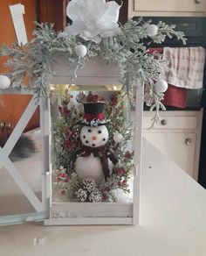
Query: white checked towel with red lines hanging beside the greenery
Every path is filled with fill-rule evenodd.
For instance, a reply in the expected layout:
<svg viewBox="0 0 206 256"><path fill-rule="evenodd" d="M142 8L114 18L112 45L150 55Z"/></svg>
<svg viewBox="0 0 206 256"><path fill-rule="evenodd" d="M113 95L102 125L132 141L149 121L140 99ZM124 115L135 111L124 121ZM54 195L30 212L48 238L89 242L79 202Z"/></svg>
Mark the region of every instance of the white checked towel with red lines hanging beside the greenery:
<svg viewBox="0 0 206 256"><path fill-rule="evenodd" d="M203 47L164 47L164 59L169 71L163 78L176 87L203 88L205 50Z"/></svg>

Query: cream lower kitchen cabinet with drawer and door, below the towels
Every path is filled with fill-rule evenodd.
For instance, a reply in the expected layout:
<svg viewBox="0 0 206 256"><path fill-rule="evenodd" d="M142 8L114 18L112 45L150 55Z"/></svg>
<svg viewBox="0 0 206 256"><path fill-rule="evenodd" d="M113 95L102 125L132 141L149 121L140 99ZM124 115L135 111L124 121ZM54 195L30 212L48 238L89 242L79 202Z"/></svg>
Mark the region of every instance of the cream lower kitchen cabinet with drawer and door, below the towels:
<svg viewBox="0 0 206 256"><path fill-rule="evenodd" d="M144 111L143 137L197 180L203 111L162 111L160 115L161 123L148 129L154 112Z"/></svg>

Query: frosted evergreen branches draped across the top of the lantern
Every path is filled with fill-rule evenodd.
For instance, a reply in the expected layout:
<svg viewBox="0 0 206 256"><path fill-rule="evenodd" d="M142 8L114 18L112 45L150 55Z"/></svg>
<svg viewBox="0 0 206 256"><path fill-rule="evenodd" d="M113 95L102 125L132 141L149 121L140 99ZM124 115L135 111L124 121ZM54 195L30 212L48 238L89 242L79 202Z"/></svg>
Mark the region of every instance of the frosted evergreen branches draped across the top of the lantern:
<svg viewBox="0 0 206 256"><path fill-rule="evenodd" d="M151 21L144 21L140 18L137 21L128 20L121 26L121 33L114 37L101 39L99 44L92 41L85 41L79 36L70 38L60 37L60 33L53 30L51 24L38 24L34 34L34 39L25 46L12 44L10 47L3 45L0 54L7 55L9 59L6 64L11 68L8 74L11 78L12 86L24 86L24 77L29 76L29 83L26 89L33 91L37 96L50 95L50 80L54 75L53 68L59 59L65 60L69 66L71 75L70 85L77 78L77 71L83 68L85 62L95 56L99 56L106 63L113 63L120 67L120 82L131 103L135 102L135 89L138 80L146 83L148 102L151 109L164 109L161 103L162 96L155 95L150 83L153 84L161 76L161 72L167 69L166 61L157 54L148 53L148 46L145 46L144 39L149 39L154 43L161 43L167 37L176 37L185 44L186 39L182 32L175 31L175 25L166 25L159 22L158 32L154 37L148 38L148 26ZM75 46L82 44L87 48L87 54L79 60L75 53ZM130 77L129 82L127 77ZM153 106L154 104L154 106ZM158 115L157 115L158 116ZM156 117L155 120L158 120Z"/></svg>

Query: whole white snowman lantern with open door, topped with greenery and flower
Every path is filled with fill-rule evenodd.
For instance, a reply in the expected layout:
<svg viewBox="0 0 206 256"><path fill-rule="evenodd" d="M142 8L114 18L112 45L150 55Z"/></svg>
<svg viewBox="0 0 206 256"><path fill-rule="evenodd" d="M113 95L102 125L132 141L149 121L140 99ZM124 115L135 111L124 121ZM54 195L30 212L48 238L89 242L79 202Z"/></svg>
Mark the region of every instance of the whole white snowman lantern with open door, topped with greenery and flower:
<svg viewBox="0 0 206 256"><path fill-rule="evenodd" d="M99 10L101 22L97 15ZM140 46L134 49L134 59L137 59L127 63L131 56L127 43L133 45L137 40L128 37L119 26L119 10L120 5L114 1L70 1L67 14L72 16L72 25L65 32L57 34L52 32L52 26L38 25L37 37L24 49L3 47L3 54L9 54L12 80L19 84L17 89L3 90L3 93L27 95L28 105L15 122L6 124L6 120L1 120L0 132L4 137L0 140L0 171L4 177L0 196L8 196L3 186L7 185L6 181L12 181L10 188L17 185L15 196L20 194L23 203L17 203L19 209L13 204L13 212L9 212L4 211L4 206L13 202L13 194L11 200L9 197L3 199L5 203L1 203L0 212L8 212L8 215L0 214L0 224L35 220L44 220L45 225L138 223L142 83L146 73L142 73L140 67L141 71L137 71L140 77L136 75L135 63L141 57L144 60L148 53L142 50L140 41ZM106 20L106 24L102 20ZM128 27L134 31L137 28L135 23L129 23ZM142 25L140 32L140 40L147 35L154 37L158 27L149 25L146 33ZM178 32L176 35L182 37ZM87 49L90 53L85 60ZM112 63L119 63L120 67ZM151 67L158 72L155 65ZM145 72L150 72L151 67L145 67ZM30 82L21 87L26 74L31 77ZM134 84L139 86L134 89ZM0 76L0 89L9 85L10 80ZM167 86L167 82L159 80L154 84L154 91L164 92ZM33 93L29 95L24 89ZM77 95L80 101L75 100ZM147 85L146 97L152 103L155 101L158 111L161 95L151 94ZM15 108L22 101L20 98L17 103L12 100L7 103ZM7 111L2 97L1 105L3 111ZM14 108L10 108L11 113L6 116L16 118ZM37 111L37 130L32 129L28 134L24 130ZM158 115L154 121L157 118ZM9 127L11 131L6 132ZM27 157L32 147L33 152ZM19 152L13 155L17 148ZM17 158L16 164L12 157ZM25 166L19 157L26 160ZM28 203L25 207L24 199Z"/></svg>

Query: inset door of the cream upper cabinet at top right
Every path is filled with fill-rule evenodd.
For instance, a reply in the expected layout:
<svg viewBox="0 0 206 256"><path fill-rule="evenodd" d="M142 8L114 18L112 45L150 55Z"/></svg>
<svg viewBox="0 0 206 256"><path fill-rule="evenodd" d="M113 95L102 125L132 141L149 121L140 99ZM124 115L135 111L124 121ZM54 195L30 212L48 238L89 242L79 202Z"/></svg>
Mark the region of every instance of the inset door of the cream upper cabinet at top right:
<svg viewBox="0 0 206 256"><path fill-rule="evenodd" d="M134 11L205 12L206 1L196 0L135 0Z"/></svg>

